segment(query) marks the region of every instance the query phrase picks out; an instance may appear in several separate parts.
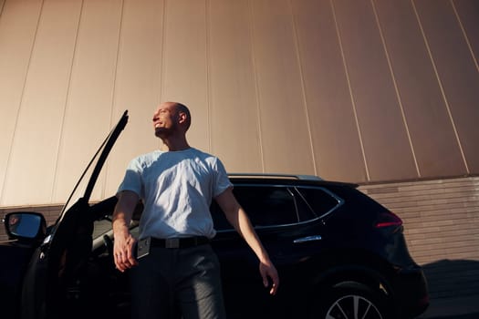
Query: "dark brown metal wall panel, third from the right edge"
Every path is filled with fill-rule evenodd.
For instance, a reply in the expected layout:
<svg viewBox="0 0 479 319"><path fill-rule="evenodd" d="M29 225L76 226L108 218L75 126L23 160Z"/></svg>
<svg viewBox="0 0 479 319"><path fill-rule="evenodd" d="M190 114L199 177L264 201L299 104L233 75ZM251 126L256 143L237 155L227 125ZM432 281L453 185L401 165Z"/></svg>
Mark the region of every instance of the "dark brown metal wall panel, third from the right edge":
<svg viewBox="0 0 479 319"><path fill-rule="evenodd" d="M419 177L465 173L461 149L411 2L375 1ZM441 129L438 129L441 128Z"/></svg>

